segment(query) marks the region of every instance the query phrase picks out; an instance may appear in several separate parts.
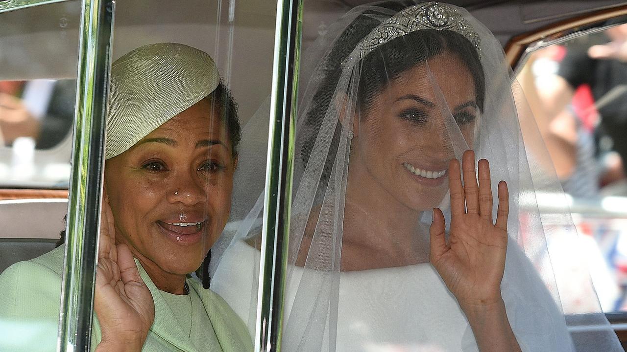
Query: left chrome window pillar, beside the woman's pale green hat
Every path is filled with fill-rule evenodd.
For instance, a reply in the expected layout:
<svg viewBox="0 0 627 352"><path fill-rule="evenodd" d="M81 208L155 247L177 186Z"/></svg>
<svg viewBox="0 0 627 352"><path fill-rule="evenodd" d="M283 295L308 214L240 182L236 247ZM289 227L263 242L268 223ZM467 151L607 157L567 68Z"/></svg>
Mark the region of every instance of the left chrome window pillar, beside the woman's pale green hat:
<svg viewBox="0 0 627 352"><path fill-rule="evenodd" d="M113 0L83 0L58 351L90 350Z"/></svg>

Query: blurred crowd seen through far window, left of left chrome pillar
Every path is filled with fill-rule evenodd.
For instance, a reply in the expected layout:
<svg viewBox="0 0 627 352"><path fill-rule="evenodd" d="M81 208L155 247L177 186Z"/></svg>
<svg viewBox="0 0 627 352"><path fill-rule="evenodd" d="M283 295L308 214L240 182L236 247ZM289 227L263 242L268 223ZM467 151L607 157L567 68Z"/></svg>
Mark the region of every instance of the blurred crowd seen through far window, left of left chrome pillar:
<svg viewBox="0 0 627 352"><path fill-rule="evenodd" d="M0 184L67 187L75 96L75 80L0 81Z"/></svg>

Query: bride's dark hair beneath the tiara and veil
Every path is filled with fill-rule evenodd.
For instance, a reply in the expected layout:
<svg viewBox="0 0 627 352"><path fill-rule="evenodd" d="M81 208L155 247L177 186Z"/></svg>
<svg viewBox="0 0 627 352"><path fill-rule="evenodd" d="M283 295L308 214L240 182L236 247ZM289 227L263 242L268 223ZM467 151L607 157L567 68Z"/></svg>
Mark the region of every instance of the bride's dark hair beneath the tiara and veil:
<svg viewBox="0 0 627 352"><path fill-rule="evenodd" d="M386 1L378 3L377 6L398 13L415 4L415 1L404 0ZM312 98L310 109L305 111L305 122L302 128L307 130L307 133L300 136L307 139L299 142L297 137L297 152L300 152L300 157L302 157L301 166L307 165L320 127L322 127L322 120L329 106L335 103L332 100L340 76L342 76L342 61L352 53L362 39L371 33L372 29L381 24L380 18L381 13L371 9L358 14L329 50L327 61L320 63L320 65L325 65L322 68L324 73ZM414 49L408 50L408 48ZM483 110L485 74L473 43L455 31L421 29L377 46L361 60L356 101L360 115L367 115L372 98L381 92L393 78L416 65L426 63L438 54L455 55L468 68L475 83L477 106ZM340 130L341 125L338 124L322 173L322 182L325 184L329 179L332 160L335 160L335 151L339 147Z"/></svg>

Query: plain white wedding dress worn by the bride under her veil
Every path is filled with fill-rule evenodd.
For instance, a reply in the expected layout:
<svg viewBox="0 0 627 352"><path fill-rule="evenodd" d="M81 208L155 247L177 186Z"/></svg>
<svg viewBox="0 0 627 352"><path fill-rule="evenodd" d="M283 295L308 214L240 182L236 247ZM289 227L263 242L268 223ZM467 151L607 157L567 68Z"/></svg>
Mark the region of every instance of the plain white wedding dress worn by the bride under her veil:
<svg viewBox="0 0 627 352"><path fill-rule="evenodd" d="M508 254L522 255L522 252L514 249L517 246L510 248L512 249ZM258 270L252 268L258 269L259 261L260 252L257 249L246 242L234 241L211 279L212 288L216 287L215 291L226 299L243 321L248 323L253 337L257 292L251 290L251 287L257 287ZM310 271L312 274L310 277L317 280L309 282L308 285L314 287L329 285L325 282L328 281L328 276L324 272L316 275L312 269L295 266L290 266L288 271L292 272L292 276L288 278L287 283L285 312L292 311L297 292L296 285L301 281L303 272ZM520 270L517 272L520 273ZM526 272L536 275L531 266ZM504 279L503 284L515 282ZM525 296L525 299L504 297L508 310L517 308L513 310L520 312L520 307L516 307L518 305L516 301L529 302L530 295L536 296L533 307L522 309L525 311L524 316L509 316L510 324L523 351L532 351L525 348L525 341L529 339L547 339L544 351L554 350L551 349L554 344L570 343L570 341L549 341L551 336L555 336L553 327L564 323L562 321L561 325L554 324L554 319L560 319L561 313L549 292L542 287L539 278L537 286L519 287L515 291L519 292L520 296ZM311 292L310 299L314 302L319 291ZM337 314L337 351L458 352L460 346L464 352L478 351L466 317L438 273L428 263L340 272ZM287 321L290 317L286 316L285 319ZM533 327L532 331L529 330L530 327ZM307 329L307 326L303 328ZM322 345L328 346L328 341L329 334L324 333ZM292 352L291 349L288 351Z"/></svg>

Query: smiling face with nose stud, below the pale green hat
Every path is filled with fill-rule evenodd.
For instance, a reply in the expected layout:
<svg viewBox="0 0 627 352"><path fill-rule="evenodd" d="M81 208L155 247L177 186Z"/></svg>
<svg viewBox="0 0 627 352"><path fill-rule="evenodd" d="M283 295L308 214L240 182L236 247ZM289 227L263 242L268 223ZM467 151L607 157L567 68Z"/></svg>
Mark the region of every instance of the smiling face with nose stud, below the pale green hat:
<svg viewBox="0 0 627 352"><path fill-rule="evenodd" d="M107 160L117 241L144 266L194 271L224 229L236 160L219 110L201 100Z"/></svg>

